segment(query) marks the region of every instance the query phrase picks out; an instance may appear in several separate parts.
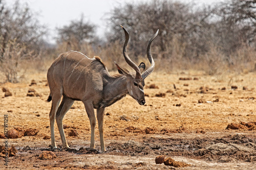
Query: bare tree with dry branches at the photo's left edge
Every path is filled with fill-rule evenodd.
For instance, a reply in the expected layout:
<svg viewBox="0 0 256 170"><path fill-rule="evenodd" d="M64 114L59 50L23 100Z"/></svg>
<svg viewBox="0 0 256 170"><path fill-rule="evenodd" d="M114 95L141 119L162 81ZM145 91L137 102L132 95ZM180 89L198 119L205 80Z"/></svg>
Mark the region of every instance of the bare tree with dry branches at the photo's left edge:
<svg viewBox="0 0 256 170"><path fill-rule="evenodd" d="M19 1L12 7L0 1L0 20L0 71L7 81L17 83L20 63L39 56L45 28L28 6Z"/></svg>

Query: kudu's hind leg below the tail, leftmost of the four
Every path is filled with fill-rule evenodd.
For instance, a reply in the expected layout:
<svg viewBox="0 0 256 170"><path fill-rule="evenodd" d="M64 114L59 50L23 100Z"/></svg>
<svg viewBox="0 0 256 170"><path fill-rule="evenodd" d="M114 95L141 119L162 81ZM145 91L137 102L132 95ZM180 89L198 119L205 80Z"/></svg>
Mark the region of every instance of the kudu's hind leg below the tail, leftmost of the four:
<svg viewBox="0 0 256 170"><path fill-rule="evenodd" d="M51 111L49 114L50 117L50 128L51 128L51 147L52 149L56 149L56 143L55 143L55 137L54 137L54 122L55 122L55 116L56 116L56 111L59 106L59 102L61 99L61 93L52 93L52 107Z"/></svg>

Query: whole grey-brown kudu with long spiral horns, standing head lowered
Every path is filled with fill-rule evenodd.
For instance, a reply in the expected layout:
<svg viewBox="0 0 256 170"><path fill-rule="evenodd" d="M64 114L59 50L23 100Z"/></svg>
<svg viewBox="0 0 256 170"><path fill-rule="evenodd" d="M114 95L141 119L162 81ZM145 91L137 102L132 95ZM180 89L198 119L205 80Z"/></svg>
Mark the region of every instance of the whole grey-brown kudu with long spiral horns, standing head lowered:
<svg viewBox="0 0 256 170"><path fill-rule="evenodd" d="M122 26L121 26L122 27ZM90 148L95 148L94 131L97 112L98 129L100 135L100 148L105 151L103 138L103 117L105 107L108 107L126 94L130 94L140 105L145 104L144 79L152 73L155 67L154 59L151 55L151 43L158 34L158 30L147 45L147 58L151 66L145 69L142 62L137 66L127 55L126 46L129 41L129 33L122 27L125 34L123 45L123 56L127 64L135 71L130 72L119 66L116 62L118 75L110 75L102 60L94 56L88 58L80 52L69 51L62 53L54 60L47 72L47 79L50 88L48 102L52 101L50 117L51 128L51 148L57 149L54 138L54 122L58 126L62 147L69 148L65 133L63 131L62 119L71 108L74 101L82 101L91 124ZM140 69L143 69L141 73ZM62 97L63 96L63 97ZM62 97L62 101L60 103ZM60 103L60 105L59 105Z"/></svg>

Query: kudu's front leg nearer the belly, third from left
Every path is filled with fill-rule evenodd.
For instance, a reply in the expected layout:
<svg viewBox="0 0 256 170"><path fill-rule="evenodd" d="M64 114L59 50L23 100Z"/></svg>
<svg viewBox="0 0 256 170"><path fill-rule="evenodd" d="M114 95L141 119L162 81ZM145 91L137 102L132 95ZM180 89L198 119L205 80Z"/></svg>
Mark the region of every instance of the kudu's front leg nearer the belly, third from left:
<svg viewBox="0 0 256 170"><path fill-rule="evenodd" d="M87 115L90 119L91 124L91 144L90 148L95 148L95 142L94 142L94 132L95 132L95 126L96 126L96 117L94 114L93 104L91 101L89 102L83 102L84 107L86 107Z"/></svg>

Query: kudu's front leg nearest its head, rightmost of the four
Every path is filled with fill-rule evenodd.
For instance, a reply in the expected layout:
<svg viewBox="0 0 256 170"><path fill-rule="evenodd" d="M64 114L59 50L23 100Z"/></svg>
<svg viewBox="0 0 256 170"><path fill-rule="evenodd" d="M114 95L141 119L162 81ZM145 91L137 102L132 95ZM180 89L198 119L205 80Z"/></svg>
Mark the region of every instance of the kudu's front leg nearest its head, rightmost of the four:
<svg viewBox="0 0 256 170"><path fill-rule="evenodd" d="M105 150L104 137L103 137L103 119L104 119L104 110L105 108L97 109L97 120L99 126L99 137L100 137L100 149L101 151Z"/></svg>

